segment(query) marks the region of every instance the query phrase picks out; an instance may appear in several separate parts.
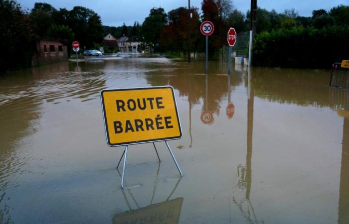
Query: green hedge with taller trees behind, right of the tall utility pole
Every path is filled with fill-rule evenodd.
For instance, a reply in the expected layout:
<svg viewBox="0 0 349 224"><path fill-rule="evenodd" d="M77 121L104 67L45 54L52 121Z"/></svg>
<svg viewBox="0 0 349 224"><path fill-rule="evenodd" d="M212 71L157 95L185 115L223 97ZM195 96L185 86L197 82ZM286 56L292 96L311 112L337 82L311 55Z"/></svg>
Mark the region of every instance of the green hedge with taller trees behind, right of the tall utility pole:
<svg viewBox="0 0 349 224"><path fill-rule="evenodd" d="M349 59L349 6L313 10L311 17L293 10L281 22L275 13L259 11L263 12L257 12L253 65L331 68L334 62Z"/></svg>

